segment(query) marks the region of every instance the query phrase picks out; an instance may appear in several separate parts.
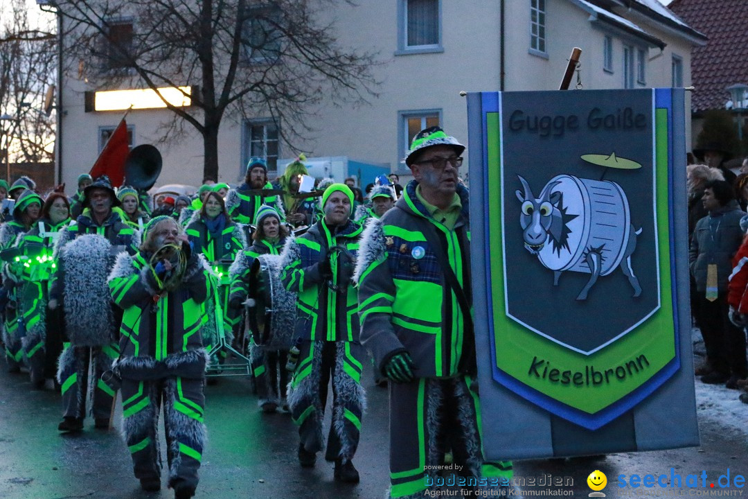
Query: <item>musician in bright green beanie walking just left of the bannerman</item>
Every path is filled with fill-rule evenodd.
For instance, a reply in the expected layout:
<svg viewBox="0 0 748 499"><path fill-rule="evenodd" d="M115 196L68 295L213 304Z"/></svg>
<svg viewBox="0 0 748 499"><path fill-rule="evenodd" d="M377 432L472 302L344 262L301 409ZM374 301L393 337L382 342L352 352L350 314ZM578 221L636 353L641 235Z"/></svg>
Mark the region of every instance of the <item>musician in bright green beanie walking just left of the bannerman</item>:
<svg viewBox="0 0 748 499"><path fill-rule="evenodd" d="M364 349L358 339L358 293L352 285L361 225L349 219L353 193L333 184L322 196L324 218L286 244L281 281L297 294L294 335L301 361L289 383L291 417L298 425L298 462L311 468L323 449L322 420L328 382L333 411L325 459L335 462L335 480L358 482L352 459L358 447L364 388ZM309 320L313 316L314 320ZM346 366L346 369L341 369Z"/></svg>

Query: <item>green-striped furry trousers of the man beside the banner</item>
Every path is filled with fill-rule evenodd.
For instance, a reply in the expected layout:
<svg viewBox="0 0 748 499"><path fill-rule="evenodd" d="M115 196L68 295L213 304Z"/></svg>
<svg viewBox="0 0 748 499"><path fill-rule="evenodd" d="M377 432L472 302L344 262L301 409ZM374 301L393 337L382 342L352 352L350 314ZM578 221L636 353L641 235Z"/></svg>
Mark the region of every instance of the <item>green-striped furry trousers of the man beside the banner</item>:
<svg viewBox="0 0 748 499"><path fill-rule="evenodd" d="M494 478L496 486L480 489L500 489L502 479L511 479L512 462L483 459L480 404L471 382L469 376L390 382L391 498L429 497L450 451L458 477ZM475 489L463 495L478 497Z"/></svg>

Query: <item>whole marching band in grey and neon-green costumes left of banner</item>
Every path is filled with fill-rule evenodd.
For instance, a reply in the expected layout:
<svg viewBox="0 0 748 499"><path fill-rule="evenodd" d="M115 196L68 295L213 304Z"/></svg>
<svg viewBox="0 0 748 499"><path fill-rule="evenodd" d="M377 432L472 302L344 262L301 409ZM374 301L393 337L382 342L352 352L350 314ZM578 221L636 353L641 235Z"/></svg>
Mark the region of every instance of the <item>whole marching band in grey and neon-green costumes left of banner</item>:
<svg viewBox="0 0 748 499"><path fill-rule="evenodd" d="M206 439L206 369L220 371L230 355L220 346L243 337L261 262L295 319L278 333L283 341L250 346L251 372L261 410L289 411L298 426L301 467L324 450L336 480L358 482L370 352L375 376L389 382L390 497L426 497L447 455L463 492L485 489L485 477L507 486L512 463L485 461L481 450L464 150L425 129L405 158L414 180L378 178L365 198L353 179L300 192L304 156L275 183L253 158L235 189L206 182L194 199L155 206L105 176L82 174L72 198L42 198L28 177L0 180L8 369L28 371L34 388L54 380L61 432L83 429L87 398L93 426L108 429L119 391L123 436L147 491L162 485L163 411L168 486L190 498Z"/></svg>

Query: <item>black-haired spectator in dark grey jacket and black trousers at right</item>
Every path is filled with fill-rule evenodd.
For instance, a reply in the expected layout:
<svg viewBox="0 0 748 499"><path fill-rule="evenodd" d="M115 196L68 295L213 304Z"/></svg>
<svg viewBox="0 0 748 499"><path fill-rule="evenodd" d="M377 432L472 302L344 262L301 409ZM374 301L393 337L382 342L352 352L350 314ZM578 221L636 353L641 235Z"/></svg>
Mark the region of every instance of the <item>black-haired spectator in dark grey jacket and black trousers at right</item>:
<svg viewBox="0 0 748 499"><path fill-rule="evenodd" d="M696 223L689 252L699 300L697 322L707 355L701 379L737 388L738 380L748 375L746 337L729 320L728 282L732 257L745 236L740 226L745 213L735 200L735 189L725 180L707 183L702 203L709 214Z"/></svg>

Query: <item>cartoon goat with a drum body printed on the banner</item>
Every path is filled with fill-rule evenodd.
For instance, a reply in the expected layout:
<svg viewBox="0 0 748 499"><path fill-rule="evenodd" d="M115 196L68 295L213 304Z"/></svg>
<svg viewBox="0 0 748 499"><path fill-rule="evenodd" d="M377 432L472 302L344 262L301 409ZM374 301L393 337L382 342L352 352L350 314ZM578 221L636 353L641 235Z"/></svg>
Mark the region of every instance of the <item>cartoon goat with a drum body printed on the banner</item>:
<svg viewBox="0 0 748 499"><path fill-rule="evenodd" d="M598 277L620 266L634 288L634 297L641 295L631 254L642 230L634 230L628 199L617 183L558 175L536 198L527 180L517 177L524 189L515 192L522 203L524 247L554 271L554 286L565 270L591 274L577 296L577 300L586 300Z"/></svg>

